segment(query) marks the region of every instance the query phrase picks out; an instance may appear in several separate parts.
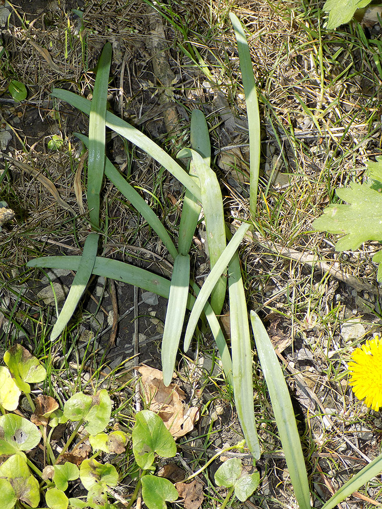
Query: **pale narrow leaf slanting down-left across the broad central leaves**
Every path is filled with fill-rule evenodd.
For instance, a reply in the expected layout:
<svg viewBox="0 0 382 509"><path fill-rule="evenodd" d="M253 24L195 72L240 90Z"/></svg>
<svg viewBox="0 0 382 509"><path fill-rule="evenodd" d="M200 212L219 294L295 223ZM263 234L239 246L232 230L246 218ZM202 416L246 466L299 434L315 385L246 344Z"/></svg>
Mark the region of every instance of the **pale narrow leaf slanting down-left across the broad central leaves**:
<svg viewBox="0 0 382 509"><path fill-rule="evenodd" d="M204 284L200 290L200 293L195 301L192 312L189 316L187 328L184 336L184 351L186 352L189 348L189 344L191 343L195 327L197 326L200 315L203 312L203 308L208 300L208 297L211 295L213 288L216 285L216 282L219 280L220 276L223 272L226 271L227 265L230 263L231 258L235 254L237 248L240 245L240 242L243 240L244 235L248 232L250 228L249 224L241 224L238 230L235 232L235 235L229 241L227 247L222 252L219 260L212 267L211 272L208 274Z"/></svg>

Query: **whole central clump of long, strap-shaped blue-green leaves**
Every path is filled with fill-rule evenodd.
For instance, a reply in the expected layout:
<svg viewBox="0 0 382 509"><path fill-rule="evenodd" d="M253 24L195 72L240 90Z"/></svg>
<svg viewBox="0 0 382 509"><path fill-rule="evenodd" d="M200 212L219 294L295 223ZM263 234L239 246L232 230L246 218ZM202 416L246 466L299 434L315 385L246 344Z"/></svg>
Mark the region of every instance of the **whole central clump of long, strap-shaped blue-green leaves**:
<svg viewBox="0 0 382 509"><path fill-rule="evenodd" d="M243 80L249 98L247 107L251 127L251 154L256 155L256 157L251 156L251 212L255 216L260 146L260 137L257 135L259 133L257 96L247 41L236 16L232 15L231 20L237 35ZM174 372L186 308L194 309L193 318L195 322L194 327L188 329L187 338L184 340L185 350L188 349L196 323L203 314L219 349L227 381L233 385L237 413L247 445L253 456L259 458L260 446L253 405L252 355L248 311L237 255L237 248L250 225L247 223L241 224L233 237L230 235L229 229L226 228L220 184L215 172L210 167L211 149L207 123L203 113L198 110L193 112L190 132L192 148L179 154L182 157L185 155L191 157L189 173L187 173L169 154L142 132L106 111L110 64L111 45L107 43L97 66L92 101L66 90L54 89L52 92L53 97L65 100L89 115L89 138L82 134L77 134L77 136L89 147L87 196L92 232L85 240L83 254L80 257L43 257L28 263L30 267L60 267L76 271L68 297L56 324L54 324L51 340L56 340L63 332L86 289L92 273L155 292L169 299L161 348L163 380L166 385L169 385ZM167 168L184 185L185 197L177 248L159 218L146 204L142 196L105 157L105 126L140 147ZM99 219L99 194L104 175L142 214L168 248L170 256L174 259L171 281L117 260L97 257L99 232L102 229ZM194 306L201 290L190 278L190 257L188 253L199 220L201 206L203 206L210 264L213 272L211 271L203 286L203 294L197 301L198 306ZM227 240L229 240L228 244ZM227 267L229 274L231 353L216 318L216 315L221 313L225 300ZM210 296L210 302L208 302Z"/></svg>

